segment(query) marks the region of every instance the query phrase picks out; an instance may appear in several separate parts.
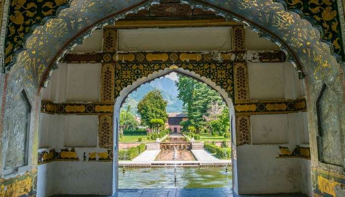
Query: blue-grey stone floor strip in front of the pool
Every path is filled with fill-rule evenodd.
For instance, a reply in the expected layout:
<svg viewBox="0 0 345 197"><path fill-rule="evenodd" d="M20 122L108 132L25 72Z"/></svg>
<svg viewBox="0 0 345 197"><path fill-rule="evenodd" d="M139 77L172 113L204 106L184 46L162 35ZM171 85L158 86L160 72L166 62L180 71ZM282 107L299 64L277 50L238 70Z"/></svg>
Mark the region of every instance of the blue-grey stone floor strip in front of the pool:
<svg viewBox="0 0 345 197"><path fill-rule="evenodd" d="M246 196L234 195L231 189L138 189L119 190L117 197L306 197L299 194Z"/></svg>

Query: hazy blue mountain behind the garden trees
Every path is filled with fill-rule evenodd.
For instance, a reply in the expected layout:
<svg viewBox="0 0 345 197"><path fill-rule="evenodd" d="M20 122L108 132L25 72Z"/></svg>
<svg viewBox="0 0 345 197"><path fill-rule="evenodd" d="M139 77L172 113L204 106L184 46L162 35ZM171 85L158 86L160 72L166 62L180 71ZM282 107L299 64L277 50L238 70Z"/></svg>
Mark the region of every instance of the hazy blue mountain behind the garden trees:
<svg viewBox="0 0 345 197"><path fill-rule="evenodd" d="M138 102L150 91L159 90L165 99L167 104L168 113L179 113L182 111L182 101L177 99L178 91L175 82L167 77L155 79L149 83L142 84L135 91L130 93L122 105L122 109L125 109L128 105L131 105L131 112L137 115Z"/></svg>

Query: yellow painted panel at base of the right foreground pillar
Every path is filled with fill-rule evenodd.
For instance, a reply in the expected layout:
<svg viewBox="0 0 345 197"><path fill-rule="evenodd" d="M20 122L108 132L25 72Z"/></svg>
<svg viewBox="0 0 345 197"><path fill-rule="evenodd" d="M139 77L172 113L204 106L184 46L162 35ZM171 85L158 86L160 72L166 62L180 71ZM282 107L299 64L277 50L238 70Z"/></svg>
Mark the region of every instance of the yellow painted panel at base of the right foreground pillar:
<svg viewBox="0 0 345 197"><path fill-rule="evenodd" d="M345 194L345 174L311 167L314 197L343 197Z"/></svg>

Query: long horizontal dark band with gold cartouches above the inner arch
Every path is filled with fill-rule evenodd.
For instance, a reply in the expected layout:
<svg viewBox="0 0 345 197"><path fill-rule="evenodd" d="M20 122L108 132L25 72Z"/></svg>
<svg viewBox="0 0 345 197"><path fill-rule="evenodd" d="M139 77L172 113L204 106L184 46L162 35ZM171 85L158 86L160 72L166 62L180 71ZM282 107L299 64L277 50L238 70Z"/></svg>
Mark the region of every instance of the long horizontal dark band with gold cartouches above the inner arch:
<svg viewBox="0 0 345 197"><path fill-rule="evenodd" d="M227 52L100 52L67 54L63 63L211 63L247 62L282 63L286 55L282 51L227 51Z"/></svg>

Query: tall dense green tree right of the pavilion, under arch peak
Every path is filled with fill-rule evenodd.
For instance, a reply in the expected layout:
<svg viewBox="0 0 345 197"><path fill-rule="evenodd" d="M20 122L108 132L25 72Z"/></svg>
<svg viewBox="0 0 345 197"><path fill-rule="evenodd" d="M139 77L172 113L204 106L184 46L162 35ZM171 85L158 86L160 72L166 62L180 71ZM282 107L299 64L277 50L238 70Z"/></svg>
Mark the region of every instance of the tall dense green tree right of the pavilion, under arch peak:
<svg viewBox="0 0 345 197"><path fill-rule="evenodd" d="M223 99L207 84L198 82L193 78L178 75L178 80L175 83L178 90L177 98L183 102L183 111L187 113L191 125L200 131L205 122L203 117L207 115L208 108L212 103L224 105Z"/></svg>

